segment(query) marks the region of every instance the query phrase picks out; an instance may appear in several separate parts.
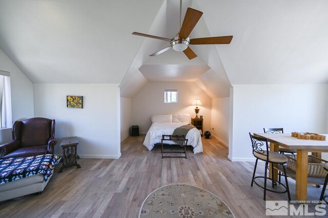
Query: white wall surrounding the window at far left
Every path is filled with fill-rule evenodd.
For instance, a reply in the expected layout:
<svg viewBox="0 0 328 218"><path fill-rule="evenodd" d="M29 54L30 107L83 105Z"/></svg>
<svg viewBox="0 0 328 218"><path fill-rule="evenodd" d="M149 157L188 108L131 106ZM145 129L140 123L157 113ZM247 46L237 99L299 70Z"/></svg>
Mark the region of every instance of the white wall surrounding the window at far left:
<svg viewBox="0 0 328 218"><path fill-rule="evenodd" d="M34 117L33 84L2 50L0 70L10 72L12 121ZM0 129L0 143L11 139L11 128Z"/></svg>

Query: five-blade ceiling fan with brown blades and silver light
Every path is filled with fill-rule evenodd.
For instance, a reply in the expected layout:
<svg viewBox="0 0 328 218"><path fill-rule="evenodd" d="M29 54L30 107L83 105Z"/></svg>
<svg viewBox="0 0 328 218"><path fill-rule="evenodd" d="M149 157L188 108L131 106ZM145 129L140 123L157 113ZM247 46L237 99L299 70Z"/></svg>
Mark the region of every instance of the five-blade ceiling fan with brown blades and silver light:
<svg viewBox="0 0 328 218"><path fill-rule="evenodd" d="M180 24L181 24L181 3L180 0ZM189 45L218 45L218 44L230 44L233 36L216 36L216 37L208 37L208 38L192 38L190 39L188 36L191 31L194 29L198 20L200 19L203 12L197 11L192 8L188 8L185 18L183 19L183 23L181 25L180 32L176 34L172 39L148 35L144 33L133 32L133 35L145 36L149 38L155 38L160 40L165 40L170 42L170 46L163 48L149 56L157 56L163 52L166 52L173 48L173 50L185 53L185 55L191 60L197 55L193 50L189 47Z"/></svg>

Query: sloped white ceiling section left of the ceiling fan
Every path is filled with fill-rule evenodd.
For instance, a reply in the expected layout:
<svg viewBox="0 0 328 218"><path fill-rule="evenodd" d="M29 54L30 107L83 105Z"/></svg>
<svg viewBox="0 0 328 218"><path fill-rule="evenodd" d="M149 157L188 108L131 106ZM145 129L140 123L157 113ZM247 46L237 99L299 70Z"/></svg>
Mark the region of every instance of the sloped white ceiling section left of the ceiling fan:
<svg viewBox="0 0 328 218"><path fill-rule="evenodd" d="M163 0L0 1L0 49L34 83L120 83Z"/></svg>

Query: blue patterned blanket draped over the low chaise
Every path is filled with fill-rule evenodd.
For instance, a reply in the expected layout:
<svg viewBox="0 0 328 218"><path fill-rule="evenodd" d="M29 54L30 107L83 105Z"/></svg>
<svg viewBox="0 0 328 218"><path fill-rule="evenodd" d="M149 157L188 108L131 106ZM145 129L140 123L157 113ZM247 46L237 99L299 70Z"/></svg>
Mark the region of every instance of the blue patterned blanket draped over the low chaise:
<svg viewBox="0 0 328 218"><path fill-rule="evenodd" d="M37 155L0 160L0 185L42 173L45 181L60 161L57 155Z"/></svg>

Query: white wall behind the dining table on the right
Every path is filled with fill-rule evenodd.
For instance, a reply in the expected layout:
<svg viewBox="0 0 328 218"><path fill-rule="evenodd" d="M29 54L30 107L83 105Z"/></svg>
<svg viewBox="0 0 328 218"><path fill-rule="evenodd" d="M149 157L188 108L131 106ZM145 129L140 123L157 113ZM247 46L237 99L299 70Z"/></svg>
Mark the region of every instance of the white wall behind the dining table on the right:
<svg viewBox="0 0 328 218"><path fill-rule="evenodd" d="M323 133L326 129L327 85L233 85L232 161L254 160L248 135L263 127L285 133Z"/></svg>

